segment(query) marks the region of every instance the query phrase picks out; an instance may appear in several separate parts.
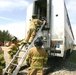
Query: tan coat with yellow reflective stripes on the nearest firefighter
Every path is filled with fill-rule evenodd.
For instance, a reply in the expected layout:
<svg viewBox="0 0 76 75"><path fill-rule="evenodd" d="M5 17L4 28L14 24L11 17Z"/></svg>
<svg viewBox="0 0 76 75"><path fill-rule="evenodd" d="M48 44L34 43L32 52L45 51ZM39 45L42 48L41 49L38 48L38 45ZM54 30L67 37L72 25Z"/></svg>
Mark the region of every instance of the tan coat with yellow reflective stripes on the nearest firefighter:
<svg viewBox="0 0 76 75"><path fill-rule="evenodd" d="M26 57L26 63L30 63L31 68L41 69L46 64L47 59L47 53L43 48L32 47Z"/></svg>

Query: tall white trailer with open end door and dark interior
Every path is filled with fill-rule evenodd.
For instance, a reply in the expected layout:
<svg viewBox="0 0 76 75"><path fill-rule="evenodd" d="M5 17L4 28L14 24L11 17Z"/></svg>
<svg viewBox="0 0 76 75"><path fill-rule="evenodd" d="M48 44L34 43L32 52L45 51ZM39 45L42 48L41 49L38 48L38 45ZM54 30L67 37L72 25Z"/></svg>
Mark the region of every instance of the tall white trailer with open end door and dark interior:
<svg viewBox="0 0 76 75"><path fill-rule="evenodd" d="M74 35L64 0L35 0L27 9L27 26L32 14L46 18L40 35L49 56L64 57L73 50Z"/></svg>

